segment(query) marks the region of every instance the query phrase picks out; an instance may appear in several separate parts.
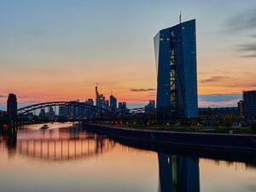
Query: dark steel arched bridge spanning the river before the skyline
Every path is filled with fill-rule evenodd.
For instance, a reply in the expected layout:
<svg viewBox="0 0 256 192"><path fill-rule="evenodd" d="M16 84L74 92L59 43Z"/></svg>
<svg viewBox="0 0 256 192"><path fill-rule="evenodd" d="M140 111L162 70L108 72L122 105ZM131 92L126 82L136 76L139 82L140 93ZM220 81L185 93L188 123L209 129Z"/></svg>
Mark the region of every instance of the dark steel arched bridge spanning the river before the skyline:
<svg viewBox="0 0 256 192"><path fill-rule="evenodd" d="M49 120L113 120L113 119L129 119L132 117L147 117L150 119L156 119L158 116L174 117L175 111L167 110L163 108L131 108L124 110L111 111L108 108L100 108L94 105L87 104L85 102L42 102L32 104L24 108L19 108L13 114L2 113L3 116L7 116L9 119L22 119L29 115L37 115L41 109L54 108L52 114L39 114L41 119ZM45 110L44 110L45 111ZM46 110L47 111L47 110ZM48 110L49 111L49 110ZM58 113L58 115L57 115ZM1 115L1 113L0 113Z"/></svg>

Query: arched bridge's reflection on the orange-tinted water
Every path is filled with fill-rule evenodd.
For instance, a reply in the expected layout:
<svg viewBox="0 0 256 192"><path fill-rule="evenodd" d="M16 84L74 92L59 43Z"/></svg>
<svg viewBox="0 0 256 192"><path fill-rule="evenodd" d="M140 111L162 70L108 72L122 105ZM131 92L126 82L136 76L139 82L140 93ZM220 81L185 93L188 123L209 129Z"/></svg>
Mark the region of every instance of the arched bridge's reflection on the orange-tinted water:
<svg viewBox="0 0 256 192"><path fill-rule="evenodd" d="M102 154L114 147L108 137L81 133L81 128L21 130L3 134L3 148L9 157L15 154L38 160L78 160Z"/></svg>

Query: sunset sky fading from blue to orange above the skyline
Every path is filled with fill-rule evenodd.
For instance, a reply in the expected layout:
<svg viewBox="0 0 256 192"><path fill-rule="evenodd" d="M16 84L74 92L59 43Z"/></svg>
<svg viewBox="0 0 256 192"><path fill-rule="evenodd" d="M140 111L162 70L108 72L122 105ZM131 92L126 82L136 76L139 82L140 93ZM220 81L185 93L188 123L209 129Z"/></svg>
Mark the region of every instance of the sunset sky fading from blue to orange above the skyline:
<svg viewBox="0 0 256 192"><path fill-rule="evenodd" d="M156 95L154 35L196 20L200 107L256 89L255 0L0 0L0 109L95 98L130 106Z"/></svg>

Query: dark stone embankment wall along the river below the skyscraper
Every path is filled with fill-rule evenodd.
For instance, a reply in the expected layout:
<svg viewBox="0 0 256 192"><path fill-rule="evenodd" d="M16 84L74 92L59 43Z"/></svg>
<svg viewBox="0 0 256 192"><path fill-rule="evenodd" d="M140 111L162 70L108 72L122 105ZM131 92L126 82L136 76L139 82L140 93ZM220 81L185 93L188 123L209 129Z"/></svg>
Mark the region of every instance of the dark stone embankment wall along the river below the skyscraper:
<svg viewBox="0 0 256 192"><path fill-rule="evenodd" d="M84 129L129 143L139 143L148 146L154 145L154 148L175 146L176 148L256 152L256 135L148 131L88 123L84 123Z"/></svg>

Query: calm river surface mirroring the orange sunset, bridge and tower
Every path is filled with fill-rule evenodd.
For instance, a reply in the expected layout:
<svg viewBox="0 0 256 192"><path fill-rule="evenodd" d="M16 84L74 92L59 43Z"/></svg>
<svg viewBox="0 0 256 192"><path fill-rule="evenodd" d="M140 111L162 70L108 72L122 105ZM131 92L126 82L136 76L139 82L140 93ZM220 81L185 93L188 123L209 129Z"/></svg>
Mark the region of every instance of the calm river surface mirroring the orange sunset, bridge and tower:
<svg viewBox="0 0 256 192"><path fill-rule="evenodd" d="M72 124L0 138L0 192L256 191L256 166L131 148Z"/></svg>

